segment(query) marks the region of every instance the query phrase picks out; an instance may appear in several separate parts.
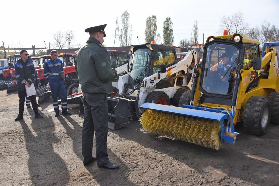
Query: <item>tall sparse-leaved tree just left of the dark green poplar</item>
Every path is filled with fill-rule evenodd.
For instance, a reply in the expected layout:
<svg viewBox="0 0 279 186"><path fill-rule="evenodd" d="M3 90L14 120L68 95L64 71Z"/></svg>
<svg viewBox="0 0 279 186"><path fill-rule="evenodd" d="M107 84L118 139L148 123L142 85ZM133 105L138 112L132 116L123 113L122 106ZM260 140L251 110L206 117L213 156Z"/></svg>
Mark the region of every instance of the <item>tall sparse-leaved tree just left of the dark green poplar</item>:
<svg viewBox="0 0 279 186"><path fill-rule="evenodd" d="M156 15L152 15L151 17L149 16L146 19L145 31L144 31L145 42L151 43L151 41L155 41L156 32L157 32L157 18Z"/></svg>

